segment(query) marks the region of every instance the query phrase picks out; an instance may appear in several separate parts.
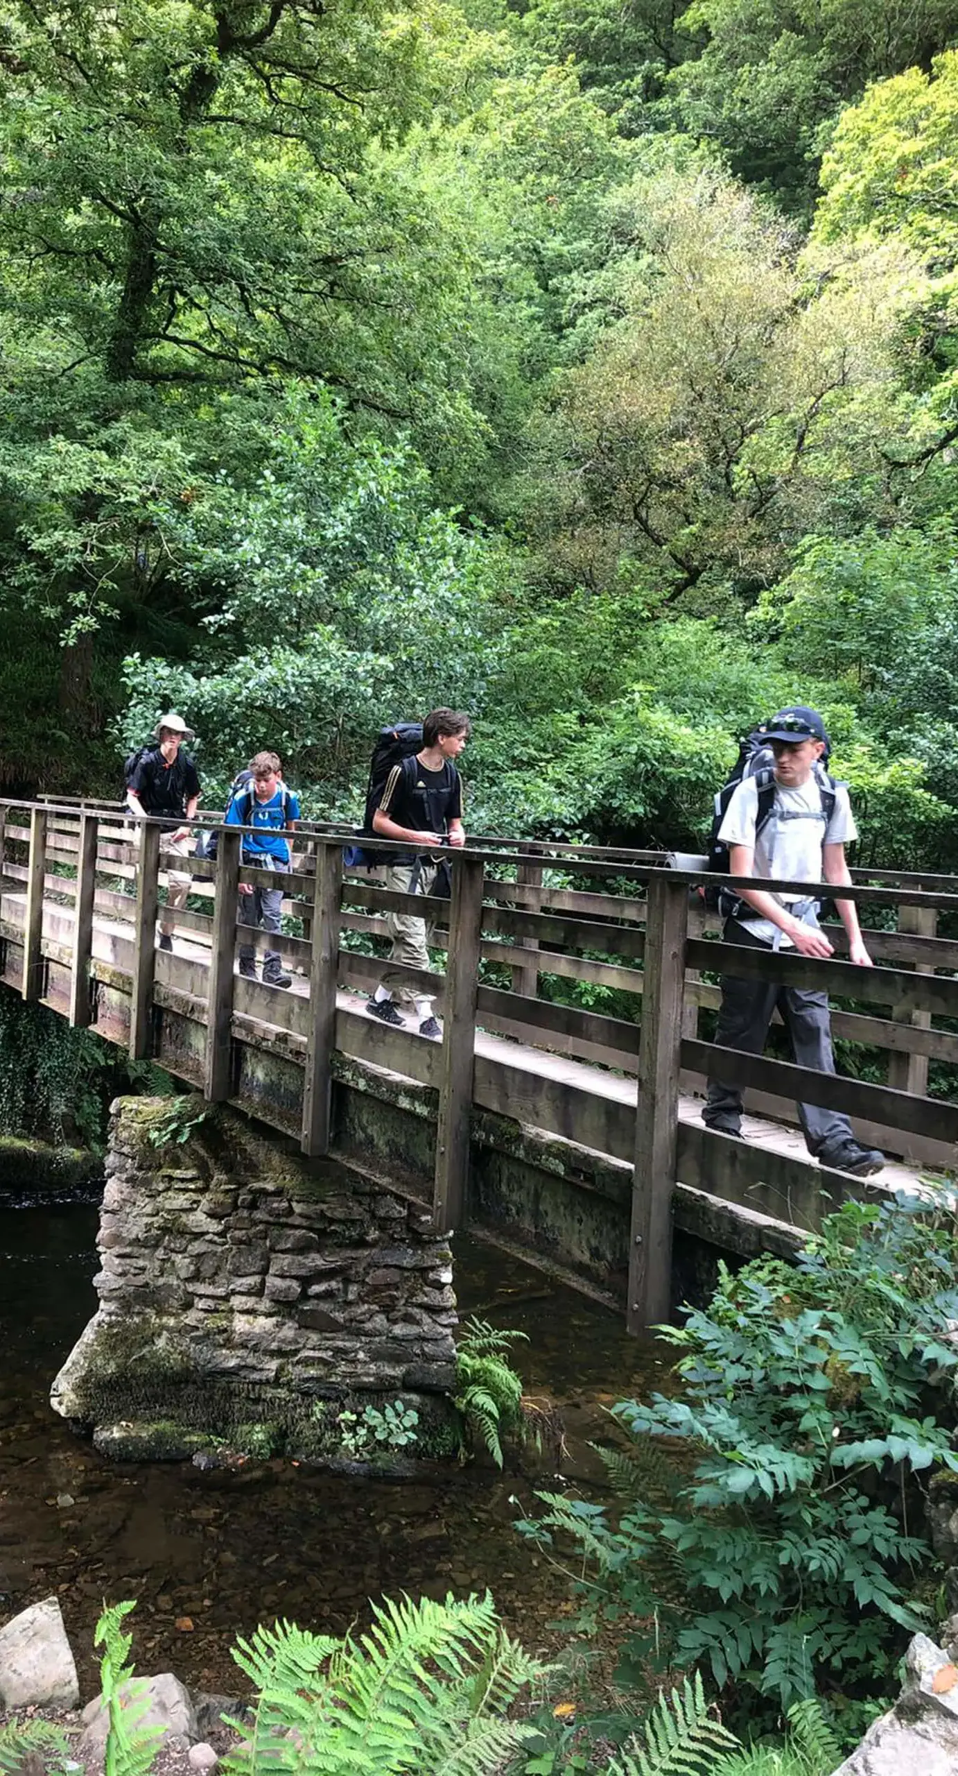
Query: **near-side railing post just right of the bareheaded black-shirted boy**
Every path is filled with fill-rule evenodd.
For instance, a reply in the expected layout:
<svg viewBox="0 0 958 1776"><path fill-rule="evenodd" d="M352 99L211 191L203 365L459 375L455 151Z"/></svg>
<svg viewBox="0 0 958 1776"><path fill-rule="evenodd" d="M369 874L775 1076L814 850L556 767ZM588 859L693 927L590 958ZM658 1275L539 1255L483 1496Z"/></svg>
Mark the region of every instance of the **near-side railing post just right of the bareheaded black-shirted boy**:
<svg viewBox="0 0 958 1776"><path fill-rule="evenodd" d="M467 1206L468 1128L475 1062L475 998L483 947L483 858L456 856L449 906L433 1222L452 1233Z"/></svg>

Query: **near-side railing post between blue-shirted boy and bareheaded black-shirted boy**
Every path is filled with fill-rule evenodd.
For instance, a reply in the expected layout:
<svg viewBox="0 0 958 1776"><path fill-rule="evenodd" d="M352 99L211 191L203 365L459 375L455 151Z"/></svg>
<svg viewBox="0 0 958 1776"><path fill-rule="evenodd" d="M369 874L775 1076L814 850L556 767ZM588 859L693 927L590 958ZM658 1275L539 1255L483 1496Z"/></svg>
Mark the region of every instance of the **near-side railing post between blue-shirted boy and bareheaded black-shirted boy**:
<svg viewBox="0 0 958 1776"><path fill-rule="evenodd" d="M330 1151L332 1055L335 1048L335 989L339 984L339 931L342 922L342 840L316 840L312 895L312 955L309 961L309 1039L303 1083L302 1151L312 1160Z"/></svg>

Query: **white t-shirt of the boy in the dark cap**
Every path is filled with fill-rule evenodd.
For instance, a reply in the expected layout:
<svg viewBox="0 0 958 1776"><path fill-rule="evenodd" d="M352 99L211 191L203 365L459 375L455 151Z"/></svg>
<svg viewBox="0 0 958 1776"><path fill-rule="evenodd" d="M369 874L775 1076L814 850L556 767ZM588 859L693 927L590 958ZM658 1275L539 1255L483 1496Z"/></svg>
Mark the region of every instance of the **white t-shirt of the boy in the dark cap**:
<svg viewBox="0 0 958 1776"><path fill-rule="evenodd" d="M821 847L848 845L859 836L852 803L844 783L836 783L836 806L832 819L825 822L821 790L809 776L800 789L782 789L775 785L775 806L756 838L758 785L756 778L745 778L734 790L726 819L718 828L718 838L726 845L754 847L752 872L772 881L821 883ZM804 899L797 893L777 893L779 906L791 906ZM763 943L779 943L793 948L791 938L779 931L770 918L740 918L754 938Z"/></svg>

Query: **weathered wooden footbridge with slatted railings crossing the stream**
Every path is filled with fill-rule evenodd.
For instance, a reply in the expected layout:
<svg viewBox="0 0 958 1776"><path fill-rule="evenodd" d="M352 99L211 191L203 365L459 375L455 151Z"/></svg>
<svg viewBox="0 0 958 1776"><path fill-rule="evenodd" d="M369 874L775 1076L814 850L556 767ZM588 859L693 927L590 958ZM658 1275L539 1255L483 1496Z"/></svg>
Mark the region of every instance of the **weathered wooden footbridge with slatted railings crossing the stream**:
<svg viewBox="0 0 958 1776"><path fill-rule="evenodd" d="M958 1105L928 1094L928 1069L958 1064L954 877L857 872L846 893L876 961L862 970L841 954L809 961L722 943L695 893L701 874L656 852L481 840L451 856L452 897L438 900L344 872L346 828L302 826L293 872L273 876L241 867L240 828L220 826L215 863L176 863L193 892L169 952L156 947L161 829L105 803L0 805L0 980L133 1058L156 1058L208 1099L294 1133L309 1156L335 1146L334 1080L349 1067L365 1069L365 1090L389 1083L394 1101L426 1087L444 1231L470 1222L470 1142L483 1121L506 1119L518 1144L536 1135L555 1179L575 1177L577 1154L589 1154L614 1188L619 1179L630 1215L635 1330L667 1314L672 1217L718 1234L733 1217L752 1229L752 1249L782 1250L816 1224L823 1197L873 1193L807 1158L797 1098L844 1110L860 1138L894 1156L880 1190L953 1165ZM284 888L291 934L241 927L241 940L282 954L289 991L236 971L240 883ZM442 993L442 1043L364 1011L387 968L373 950L390 908L424 915L447 950L445 979L404 970L419 991ZM841 927L830 936L839 950ZM825 987L846 1044L841 1076L726 1050L722 1076L747 1087L752 1112L742 1140L706 1130L695 1099L713 1053L699 1012L717 1007L722 970ZM596 1009L566 1002L575 984ZM885 1082L853 1076L862 1057L873 1074L876 1053ZM263 1083L263 1057L284 1064L279 1096Z"/></svg>

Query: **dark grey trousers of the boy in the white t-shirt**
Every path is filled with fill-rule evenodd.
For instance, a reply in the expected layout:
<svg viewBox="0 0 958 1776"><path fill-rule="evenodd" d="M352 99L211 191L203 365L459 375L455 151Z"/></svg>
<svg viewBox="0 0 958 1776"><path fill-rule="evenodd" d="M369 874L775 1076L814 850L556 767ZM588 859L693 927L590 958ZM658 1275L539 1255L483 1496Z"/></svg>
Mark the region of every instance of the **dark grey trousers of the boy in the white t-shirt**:
<svg viewBox="0 0 958 1776"><path fill-rule="evenodd" d="M768 950L768 943L754 938L734 918L726 922L722 938L726 943L740 943L747 950ZM816 1073L834 1073L828 995L813 993L809 987L786 987L777 980L738 980L734 975L722 975L722 1005L715 1044L740 1048L747 1055L761 1055L775 1005L784 1019L797 1064L814 1067ZM720 1057L715 1055L715 1078L708 1082L703 1117L710 1128L738 1133L742 1128L742 1089L722 1085L718 1074ZM809 1153L818 1158L830 1158L837 1147L855 1138L848 1117L837 1115L836 1110L823 1110L820 1105L798 1105L798 1121Z"/></svg>

